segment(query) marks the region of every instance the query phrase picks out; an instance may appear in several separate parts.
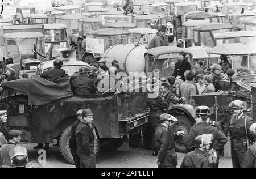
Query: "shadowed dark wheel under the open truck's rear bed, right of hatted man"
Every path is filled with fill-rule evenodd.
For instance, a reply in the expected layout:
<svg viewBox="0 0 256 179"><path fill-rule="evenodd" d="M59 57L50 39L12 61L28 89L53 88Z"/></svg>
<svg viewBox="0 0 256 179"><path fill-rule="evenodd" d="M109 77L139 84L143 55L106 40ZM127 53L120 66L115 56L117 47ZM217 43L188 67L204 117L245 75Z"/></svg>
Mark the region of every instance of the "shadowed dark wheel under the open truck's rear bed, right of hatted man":
<svg viewBox="0 0 256 179"><path fill-rule="evenodd" d="M115 151L118 150L123 144L123 139L101 139L100 148L103 151Z"/></svg>

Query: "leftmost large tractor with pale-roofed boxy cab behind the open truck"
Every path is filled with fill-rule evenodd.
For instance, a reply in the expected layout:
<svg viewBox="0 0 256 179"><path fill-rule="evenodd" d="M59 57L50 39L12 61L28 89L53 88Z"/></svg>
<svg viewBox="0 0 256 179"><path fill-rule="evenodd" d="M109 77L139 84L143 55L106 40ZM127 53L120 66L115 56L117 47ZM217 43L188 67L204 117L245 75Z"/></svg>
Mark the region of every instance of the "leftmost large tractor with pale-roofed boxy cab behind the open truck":
<svg viewBox="0 0 256 179"><path fill-rule="evenodd" d="M5 67L9 63L14 64L15 76L19 76L19 70L22 69L23 60L34 61L39 59L40 62L46 61L44 50L44 35L40 32L14 32L6 33L3 35L5 40L5 57L2 61L2 70L5 71ZM39 54L33 52L41 54ZM36 66L30 66L30 70L36 70Z"/></svg>

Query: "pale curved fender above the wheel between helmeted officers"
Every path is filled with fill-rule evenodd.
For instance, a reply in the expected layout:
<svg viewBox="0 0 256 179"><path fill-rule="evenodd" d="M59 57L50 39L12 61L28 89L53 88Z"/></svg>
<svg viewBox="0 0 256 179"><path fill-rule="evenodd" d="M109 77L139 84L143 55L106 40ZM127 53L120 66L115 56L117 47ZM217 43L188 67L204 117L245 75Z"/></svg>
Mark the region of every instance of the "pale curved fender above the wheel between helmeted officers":
<svg viewBox="0 0 256 179"><path fill-rule="evenodd" d="M193 120L193 122L195 121L195 109L190 104L173 105L170 108L168 108L168 113L173 114L173 115L176 115L179 113L185 113L185 114L187 114L187 116L189 116L191 118L191 120Z"/></svg>

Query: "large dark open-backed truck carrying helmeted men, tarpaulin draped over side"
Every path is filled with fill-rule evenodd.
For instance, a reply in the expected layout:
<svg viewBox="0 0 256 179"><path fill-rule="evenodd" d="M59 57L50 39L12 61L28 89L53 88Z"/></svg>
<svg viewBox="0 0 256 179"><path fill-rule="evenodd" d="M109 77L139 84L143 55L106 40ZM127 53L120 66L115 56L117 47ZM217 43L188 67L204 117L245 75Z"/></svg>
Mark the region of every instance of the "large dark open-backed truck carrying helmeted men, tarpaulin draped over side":
<svg viewBox="0 0 256 179"><path fill-rule="evenodd" d="M69 59L68 68L71 61L75 63L76 60ZM51 69L53 62L49 65L50 62L39 65L37 73L43 73L44 68L46 68L44 70ZM63 68L67 70L65 60L63 62ZM76 63L75 68L69 69L75 69L78 72L81 66L88 66L81 61ZM72 73L68 74L72 75ZM100 140L101 150L117 150L128 134L141 133L148 122L144 92L73 96L69 78L59 79L53 83L35 77L16 80L12 83L6 82L4 86L6 90L3 91L0 103L5 104L10 114L9 129L23 130L22 141L26 143L53 143L54 138L60 137L60 152L70 163L73 163L73 159L68 141L71 137L72 123L77 118L77 110L92 109L93 124ZM18 93L13 96L9 89ZM8 100L5 98L7 91L9 91Z"/></svg>

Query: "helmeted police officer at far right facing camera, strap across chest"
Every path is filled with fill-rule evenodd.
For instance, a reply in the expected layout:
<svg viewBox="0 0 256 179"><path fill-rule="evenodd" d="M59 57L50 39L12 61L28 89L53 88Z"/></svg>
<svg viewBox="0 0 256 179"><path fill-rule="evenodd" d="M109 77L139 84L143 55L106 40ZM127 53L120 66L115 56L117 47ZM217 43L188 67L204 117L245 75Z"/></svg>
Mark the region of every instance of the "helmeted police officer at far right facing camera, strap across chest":
<svg viewBox="0 0 256 179"><path fill-rule="evenodd" d="M234 100L229 104L229 108L234 111L229 124L229 132L231 136L231 155L233 168L242 168L245 164L245 156L248 140L254 140L256 134L250 131L253 119L243 113L245 108L243 102Z"/></svg>

